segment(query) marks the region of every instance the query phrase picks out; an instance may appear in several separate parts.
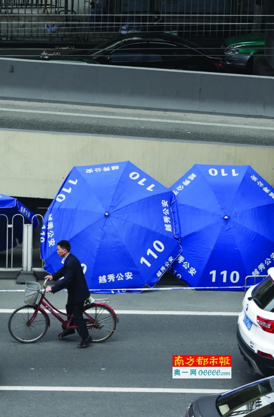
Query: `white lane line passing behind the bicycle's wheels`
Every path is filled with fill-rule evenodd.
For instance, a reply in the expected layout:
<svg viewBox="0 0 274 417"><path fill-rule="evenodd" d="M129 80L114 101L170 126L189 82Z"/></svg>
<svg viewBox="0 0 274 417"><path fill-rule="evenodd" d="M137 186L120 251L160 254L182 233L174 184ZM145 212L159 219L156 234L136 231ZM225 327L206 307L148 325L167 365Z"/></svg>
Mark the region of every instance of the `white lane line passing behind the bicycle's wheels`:
<svg viewBox="0 0 274 417"><path fill-rule="evenodd" d="M0 308L0 313L12 313L15 308ZM48 310L46 310L49 312ZM59 310L66 312L65 310ZM21 311L23 312L23 311ZM238 316L239 312L231 311L155 311L155 310L115 310L116 314L146 314L146 315L158 315L158 316Z"/></svg>

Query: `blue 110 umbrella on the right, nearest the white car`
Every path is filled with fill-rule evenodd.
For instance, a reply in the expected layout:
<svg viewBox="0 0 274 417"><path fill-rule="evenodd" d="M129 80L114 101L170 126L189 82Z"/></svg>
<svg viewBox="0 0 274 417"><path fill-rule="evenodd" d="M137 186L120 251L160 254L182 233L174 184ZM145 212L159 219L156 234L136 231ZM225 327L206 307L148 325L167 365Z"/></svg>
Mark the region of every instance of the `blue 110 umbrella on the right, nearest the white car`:
<svg viewBox="0 0 274 417"><path fill-rule="evenodd" d="M183 247L170 268L175 276L190 287L241 291L247 275L267 275L274 189L251 166L195 164L170 189Z"/></svg>

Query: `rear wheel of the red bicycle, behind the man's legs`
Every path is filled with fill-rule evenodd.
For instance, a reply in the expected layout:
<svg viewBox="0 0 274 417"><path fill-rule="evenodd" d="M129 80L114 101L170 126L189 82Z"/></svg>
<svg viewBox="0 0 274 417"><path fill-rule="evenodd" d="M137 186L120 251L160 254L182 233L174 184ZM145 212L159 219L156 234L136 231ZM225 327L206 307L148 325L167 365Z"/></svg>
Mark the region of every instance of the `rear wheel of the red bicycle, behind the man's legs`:
<svg viewBox="0 0 274 417"><path fill-rule="evenodd" d="M93 343L104 342L113 335L116 328L116 317L108 305L90 304L83 315ZM77 331L79 333L79 329Z"/></svg>

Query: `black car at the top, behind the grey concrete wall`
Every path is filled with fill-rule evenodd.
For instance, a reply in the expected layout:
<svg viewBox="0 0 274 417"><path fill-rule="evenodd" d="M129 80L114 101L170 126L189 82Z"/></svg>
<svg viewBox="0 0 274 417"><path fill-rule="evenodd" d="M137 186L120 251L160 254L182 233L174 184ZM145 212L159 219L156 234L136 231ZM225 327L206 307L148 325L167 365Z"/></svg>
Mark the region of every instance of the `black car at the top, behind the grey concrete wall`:
<svg viewBox="0 0 274 417"><path fill-rule="evenodd" d="M188 71L222 71L222 58L214 50L166 33L134 33L114 38L90 50L44 51L43 59L107 65L167 68Z"/></svg>

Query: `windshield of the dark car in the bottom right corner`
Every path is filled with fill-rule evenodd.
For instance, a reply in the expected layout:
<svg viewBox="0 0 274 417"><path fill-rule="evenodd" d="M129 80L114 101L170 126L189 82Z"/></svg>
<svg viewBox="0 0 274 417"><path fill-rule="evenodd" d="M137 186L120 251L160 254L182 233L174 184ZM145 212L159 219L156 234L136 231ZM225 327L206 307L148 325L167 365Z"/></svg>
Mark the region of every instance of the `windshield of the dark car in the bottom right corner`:
<svg viewBox="0 0 274 417"><path fill-rule="evenodd" d="M274 378L221 395L216 406L221 416L248 415L270 417L274 414Z"/></svg>

